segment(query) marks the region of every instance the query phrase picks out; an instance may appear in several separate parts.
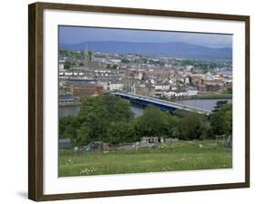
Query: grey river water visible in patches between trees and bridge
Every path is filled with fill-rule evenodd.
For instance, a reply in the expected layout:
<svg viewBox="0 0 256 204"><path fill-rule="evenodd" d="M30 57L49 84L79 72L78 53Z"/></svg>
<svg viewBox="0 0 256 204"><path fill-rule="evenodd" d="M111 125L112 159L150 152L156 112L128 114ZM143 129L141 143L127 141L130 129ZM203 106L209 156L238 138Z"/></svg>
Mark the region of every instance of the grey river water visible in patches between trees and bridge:
<svg viewBox="0 0 256 204"><path fill-rule="evenodd" d="M232 99L180 100L180 101L175 101L175 103L188 105L191 107L200 107L206 110L213 110L217 101L225 101L225 100L227 100L229 103L232 103ZM79 105L60 106L58 109L59 116L60 117L77 116L79 109L80 109ZM132 104L131 110L134 113L135 117L140 117L143 114L143 107L138 107Z"/></svg>

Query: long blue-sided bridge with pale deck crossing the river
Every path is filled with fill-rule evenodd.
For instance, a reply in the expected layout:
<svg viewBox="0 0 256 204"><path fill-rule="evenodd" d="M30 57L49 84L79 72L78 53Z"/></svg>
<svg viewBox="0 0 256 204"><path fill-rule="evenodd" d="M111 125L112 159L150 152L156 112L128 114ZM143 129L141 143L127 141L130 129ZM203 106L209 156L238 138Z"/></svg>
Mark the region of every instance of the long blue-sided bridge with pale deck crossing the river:
<svg viewBox="0 0 256 204"><path fill-rule="evenodd" d="M190 107L187 105L182 105L166 100L161 100L154 97L144 97L141 95L128 94L128 93L114 93L116 96L128 99L131 103L137 104L138 106L148 107L155 106L159 107L161 110L167 110L170 113L174 113L176 109L187 110L190 112L195 112L204 115L210 115L212 112L210 110L202 109L199 107Z"/></svg>

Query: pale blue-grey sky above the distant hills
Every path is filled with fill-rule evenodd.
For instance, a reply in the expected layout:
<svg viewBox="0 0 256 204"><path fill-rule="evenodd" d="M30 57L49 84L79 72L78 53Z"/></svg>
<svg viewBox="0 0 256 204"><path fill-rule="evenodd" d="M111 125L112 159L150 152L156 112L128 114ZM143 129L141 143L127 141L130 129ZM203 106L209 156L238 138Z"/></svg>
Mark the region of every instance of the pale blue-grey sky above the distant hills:
<svg viewBox="0 0 256 204"><path fill-rule="evenodd" d="M59 26L59 43L78 44L88 41L183 42L216 48L232 47L232 35Z"/></svg>

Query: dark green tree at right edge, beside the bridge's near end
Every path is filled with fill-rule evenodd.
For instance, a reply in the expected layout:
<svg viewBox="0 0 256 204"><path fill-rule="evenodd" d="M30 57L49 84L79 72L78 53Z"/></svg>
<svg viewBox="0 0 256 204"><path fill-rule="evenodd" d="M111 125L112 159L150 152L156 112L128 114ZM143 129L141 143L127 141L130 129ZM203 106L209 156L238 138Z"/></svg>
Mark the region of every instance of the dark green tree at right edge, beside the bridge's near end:
<svg viewBox="0 0 256 204"><path fill-rule="evenodd" d="M214 135L232 135L232 105L224 105L212 114L210 125Z"/></svg>

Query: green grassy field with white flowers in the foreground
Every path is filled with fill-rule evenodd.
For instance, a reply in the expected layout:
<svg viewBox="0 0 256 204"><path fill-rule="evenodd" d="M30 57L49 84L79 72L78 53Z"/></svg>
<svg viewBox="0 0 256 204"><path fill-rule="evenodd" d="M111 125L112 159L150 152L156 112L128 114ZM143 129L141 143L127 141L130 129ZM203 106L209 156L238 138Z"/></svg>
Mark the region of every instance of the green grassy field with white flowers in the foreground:
<svg viewBox="0 0 256 204"><path fill-rule="evenodd" d="M214 140L176 141L160 148L74 153L59 150L59 177L232 168L231 148Z"/></svg>

